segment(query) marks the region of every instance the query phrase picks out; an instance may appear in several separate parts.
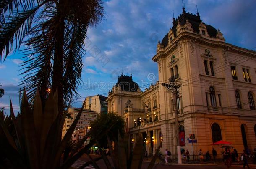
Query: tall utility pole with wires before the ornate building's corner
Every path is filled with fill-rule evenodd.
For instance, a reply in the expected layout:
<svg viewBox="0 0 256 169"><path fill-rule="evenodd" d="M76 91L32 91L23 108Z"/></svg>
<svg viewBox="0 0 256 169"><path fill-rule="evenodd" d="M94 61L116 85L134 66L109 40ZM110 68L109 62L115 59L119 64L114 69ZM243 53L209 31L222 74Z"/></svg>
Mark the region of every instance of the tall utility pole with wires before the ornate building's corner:
<svg viewBox="0 0 256 169"><path fill-rule="evenodd" d="M174 103L174 115L175 115L175 131L176 131L176 138L177 138L177 154L178 154L178 164L182 163L181 160L181 152L180 152L180 136L179 136L179 126L178 126L178 113L177 113L177 103L176 103L176 96L178 93L178 88L180 88L181 84L175 82L176 76L172 76L169 79L169 84L162 83L162 86L165 86L168 91L170 91L173 95L173 103Z"/></svg>

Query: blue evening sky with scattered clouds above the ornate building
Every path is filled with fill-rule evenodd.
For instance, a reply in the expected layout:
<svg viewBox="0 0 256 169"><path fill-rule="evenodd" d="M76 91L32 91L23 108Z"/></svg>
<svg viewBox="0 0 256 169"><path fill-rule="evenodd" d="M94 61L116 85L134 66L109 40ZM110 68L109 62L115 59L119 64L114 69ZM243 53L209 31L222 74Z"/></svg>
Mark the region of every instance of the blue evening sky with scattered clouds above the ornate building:
<svg viewBox="0 0 256 169"><path fill-rule="evenodd" d="M220 29L227 43L256 50L255 0L184 0L184 3L190 13L196 13L198 5L201 20ZM172 27L172 10L175 18L182 13L182 1L107 0L104 8L106 19L87 33L82 85L78 86L81 97L102 93L107 96L122 68L128 74L132 69L133 80L142 88L157 81L157 64L151 58L156 53L157 41ZM5 89L0 106L7 111L9 97L18 109L21 58L22 54L16 52L0 63L0 84ZM75 100L74 106L81 106L82 100Z"/></svg>

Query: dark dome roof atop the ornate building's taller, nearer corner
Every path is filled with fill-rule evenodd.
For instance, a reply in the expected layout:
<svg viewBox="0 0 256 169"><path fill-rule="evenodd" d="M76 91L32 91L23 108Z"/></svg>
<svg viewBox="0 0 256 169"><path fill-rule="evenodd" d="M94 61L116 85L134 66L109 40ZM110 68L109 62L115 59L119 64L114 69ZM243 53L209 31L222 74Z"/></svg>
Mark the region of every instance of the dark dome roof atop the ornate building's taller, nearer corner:
<svg viewBox="0 0 256 169"><path fill-rule="evenodd" d="M172 26L172 31L174 33L174 38L177 36L176 35L176 31L177 31L177 25L178 23L180 23L180 25L185 25L186 24L186 21L189 21L189 23L191 23L191 26L193 28L193 31L194 33L199 33L199 25L202 23L201 19L200 19L200 16L199 16L199 13L197 13L197 15L193 15L192 13L186 13L185 12L185 9L183 9L183 13L177 18L173 18L173 26ZM206 30L207 30L207 33L210 37L213 37L213 38L216 38L216 35L218 33L218 31L211 25L206 25ZM162 39L162 42L161 44L165 46L168 45L168 33L164 36L164 38Z"/></svg>

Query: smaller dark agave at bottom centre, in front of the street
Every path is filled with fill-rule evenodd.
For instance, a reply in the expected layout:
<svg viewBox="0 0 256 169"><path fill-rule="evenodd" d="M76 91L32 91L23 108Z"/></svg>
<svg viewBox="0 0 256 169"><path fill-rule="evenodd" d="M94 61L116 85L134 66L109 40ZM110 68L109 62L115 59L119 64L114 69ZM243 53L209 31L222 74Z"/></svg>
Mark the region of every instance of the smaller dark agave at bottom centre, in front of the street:
<svg viewBox="0 0 256 169"><path fill-rule="evenodd" d="M110 140L110 137L107 136L108 140L108 147L110 150L110 156L113 162L113 166L111 166L110 161L107 159L107 155L102 151L102 148L99 144L99 142L96 140L97 146L99 147L99 151L102 155L102 159L104 160L104 163L107 166L107 169L140 169L144 154L146 151L146 144L144 144L143 138L140 136L140 133L138 133L138 137L136 139L135 145L133 149L131 148L131 138L130 134L125 134L124 137L121 137L121 134L118 132L118 140L114 143L114 148L112 146L112 141ZM162 140L163 141L163 140ZM148 169L152 169L155 161L157 159L157 154L160 150L160 147L162 146L162 141L160 142L160 146L157 148L157 151L155 152L152 160L150 161L150 164L148 166ZM93 160L92 160L93 161ZM95 164L95 162L92 162ZM97 164L96 164L97 165ZM79 167L79 169L83 169L86 166L83 165ZM99 168L99 166L97 166Z"/></svg>

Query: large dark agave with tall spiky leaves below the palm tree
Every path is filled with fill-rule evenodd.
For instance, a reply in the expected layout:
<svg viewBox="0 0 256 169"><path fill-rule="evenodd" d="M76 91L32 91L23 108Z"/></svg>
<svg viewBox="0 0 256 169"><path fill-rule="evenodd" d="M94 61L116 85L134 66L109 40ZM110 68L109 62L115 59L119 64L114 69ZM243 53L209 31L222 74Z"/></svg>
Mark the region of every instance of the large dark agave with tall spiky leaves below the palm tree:
<svg viewBox="0 0 256 169"><path fill-rule="evenodd" d="M22 169L67 169L95 143L96 139L101 139L106 134L108 129L102 129L100 124L94 126L61 164L63 150L68 146L84 104L61 140L62 128L68 111L59 114L57 103L56 91L55 94L49 94L45 106L42 107L41 98L37 92L34 104L30 106L24 91L21 113L18 113L16 117L10 101L10 116L4 115L3 110L0 113L0 149L2 151L0 164L8 163L5 168L9 166ZM91 133L95 133L94 139L78 151Z"/></svg>

